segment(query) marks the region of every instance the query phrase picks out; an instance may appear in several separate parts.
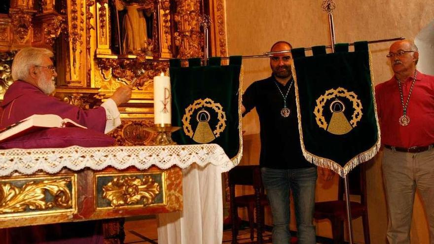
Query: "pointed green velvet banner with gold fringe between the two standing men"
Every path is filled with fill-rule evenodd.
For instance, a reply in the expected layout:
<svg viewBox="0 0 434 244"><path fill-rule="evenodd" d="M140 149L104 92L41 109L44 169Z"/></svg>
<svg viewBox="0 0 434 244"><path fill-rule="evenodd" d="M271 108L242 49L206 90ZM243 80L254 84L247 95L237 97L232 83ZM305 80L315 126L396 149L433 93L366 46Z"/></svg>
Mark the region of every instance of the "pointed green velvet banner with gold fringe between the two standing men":
<svg viewBox="0 0 434 244"><path fill-rule="evenodd" d="M367 42L292 50L303 155L315 165L345 176L380 148Z"/></svg>

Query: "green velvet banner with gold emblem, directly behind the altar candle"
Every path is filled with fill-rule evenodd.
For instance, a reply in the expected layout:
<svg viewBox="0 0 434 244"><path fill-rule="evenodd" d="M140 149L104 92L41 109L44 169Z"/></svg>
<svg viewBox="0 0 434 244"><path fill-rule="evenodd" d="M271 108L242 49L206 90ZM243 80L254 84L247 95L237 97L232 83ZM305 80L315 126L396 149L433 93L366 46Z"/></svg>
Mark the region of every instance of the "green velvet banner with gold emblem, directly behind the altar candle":
<svg viewBox="0 0 434 244"><path fill-rule="evenodd" d="M242 154L239 105L241 56L210 58L208 66L190 59L181 67L179 59L170 62L172 125L181 127L172 138L178 144L217 143L235 164Z"/></svg>

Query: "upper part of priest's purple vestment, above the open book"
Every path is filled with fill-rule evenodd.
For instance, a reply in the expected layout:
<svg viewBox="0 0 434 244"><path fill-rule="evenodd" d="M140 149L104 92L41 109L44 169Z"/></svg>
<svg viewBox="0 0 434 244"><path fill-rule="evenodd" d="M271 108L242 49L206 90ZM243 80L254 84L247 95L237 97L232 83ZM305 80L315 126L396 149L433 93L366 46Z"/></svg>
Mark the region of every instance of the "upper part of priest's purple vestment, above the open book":
<svg viewBox="0 0 434 244"><path fill-rule="evenodd" d="M34 114L57 114L82 126L104 133L106 110L98 107L83 110L77 106L47 96L39 88L24 81L14 81L0 105L0 128L14 124Z"/></svg>

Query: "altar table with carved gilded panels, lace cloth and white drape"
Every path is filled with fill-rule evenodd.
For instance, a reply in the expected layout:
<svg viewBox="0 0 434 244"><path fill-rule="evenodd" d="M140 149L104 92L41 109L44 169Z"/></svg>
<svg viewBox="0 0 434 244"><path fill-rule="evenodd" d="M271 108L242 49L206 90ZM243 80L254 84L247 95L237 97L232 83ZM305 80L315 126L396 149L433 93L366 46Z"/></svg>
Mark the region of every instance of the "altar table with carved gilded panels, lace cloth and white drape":
<svg viewBox="0 0 434 244"><path fill-rule="evenodd" d="M2 150L0 228L158 214L159 243L221 243L232 167L217 144Z"/></svg>

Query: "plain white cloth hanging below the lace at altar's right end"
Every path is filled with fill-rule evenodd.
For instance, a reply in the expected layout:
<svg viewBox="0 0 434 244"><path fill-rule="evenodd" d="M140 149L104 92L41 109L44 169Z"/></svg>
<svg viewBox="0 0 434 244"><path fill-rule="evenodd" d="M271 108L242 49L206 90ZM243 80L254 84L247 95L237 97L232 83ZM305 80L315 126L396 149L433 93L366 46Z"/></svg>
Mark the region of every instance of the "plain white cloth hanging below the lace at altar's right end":
<svg viewBox="0 0 434 244"><path fill-rule="evenodd" d="M221 169L191 165L182 170L182 212L158 214L158 244L221 244Z"/></svg>

